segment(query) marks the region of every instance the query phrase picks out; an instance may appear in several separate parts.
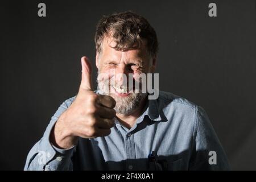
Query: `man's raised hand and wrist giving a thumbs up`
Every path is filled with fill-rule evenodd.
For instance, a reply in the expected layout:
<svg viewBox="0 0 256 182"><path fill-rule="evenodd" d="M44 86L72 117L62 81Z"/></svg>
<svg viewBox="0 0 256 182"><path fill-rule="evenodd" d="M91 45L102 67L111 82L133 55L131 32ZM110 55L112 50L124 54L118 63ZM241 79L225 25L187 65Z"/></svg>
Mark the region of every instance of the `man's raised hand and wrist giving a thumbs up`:
<svg viewBox="0 0 256 182"><path fill-rule="evenodd" d="M92 90L92 68L87 57L81 58L82 77L79 93L72 105L60 115L51 132L51 142L70 148L78 137L96 138L110 134L114 126L115 100Z"/></svg>

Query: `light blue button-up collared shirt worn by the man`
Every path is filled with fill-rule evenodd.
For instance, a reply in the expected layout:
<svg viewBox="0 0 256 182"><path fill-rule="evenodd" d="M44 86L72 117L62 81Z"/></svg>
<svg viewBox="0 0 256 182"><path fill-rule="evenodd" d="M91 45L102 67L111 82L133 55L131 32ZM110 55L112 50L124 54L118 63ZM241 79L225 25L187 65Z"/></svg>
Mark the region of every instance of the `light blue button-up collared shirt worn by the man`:
<svg viewBox="0 0 256 182"><path fill-rule="evenodd" d="M43 137L30 150L24 170L229 169L204 109L162 91L158 99L147 100L144 112L130 130L115 119L106 137L79 138L77 145L68 150L52 146L52 127L74 100L72 97L63 102L53 115Z"/></svg>

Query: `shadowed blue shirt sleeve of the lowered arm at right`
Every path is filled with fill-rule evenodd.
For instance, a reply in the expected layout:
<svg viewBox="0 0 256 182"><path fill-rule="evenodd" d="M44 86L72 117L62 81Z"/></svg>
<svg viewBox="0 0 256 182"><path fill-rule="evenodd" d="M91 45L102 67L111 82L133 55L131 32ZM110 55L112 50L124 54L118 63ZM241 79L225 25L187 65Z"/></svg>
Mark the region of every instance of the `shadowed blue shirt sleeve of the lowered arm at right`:
<svg viewBox="0 0 256 182"><path fill-rule="evenodd" d="M229 170L229 162L207 113L196 109L196 122L192 144L190 170Z"/></svg>

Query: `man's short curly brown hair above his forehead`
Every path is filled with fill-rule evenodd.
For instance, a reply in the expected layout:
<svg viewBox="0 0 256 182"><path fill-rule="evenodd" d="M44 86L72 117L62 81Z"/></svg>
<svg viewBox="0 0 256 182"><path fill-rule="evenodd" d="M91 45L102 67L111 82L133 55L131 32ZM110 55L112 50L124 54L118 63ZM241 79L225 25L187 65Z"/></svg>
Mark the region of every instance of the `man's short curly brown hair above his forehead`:
<svg viewBox="0 0 256 182"><path fill-rule="evenodd" d="M154 28L141 15L132 11L114 13L103 16L97 24L94 42L96 50L101 52L104 38L112 36L116 50L128 51L140 48L142 40L146 40L147 51L151 56L158 52L158 39Z"/></svg>

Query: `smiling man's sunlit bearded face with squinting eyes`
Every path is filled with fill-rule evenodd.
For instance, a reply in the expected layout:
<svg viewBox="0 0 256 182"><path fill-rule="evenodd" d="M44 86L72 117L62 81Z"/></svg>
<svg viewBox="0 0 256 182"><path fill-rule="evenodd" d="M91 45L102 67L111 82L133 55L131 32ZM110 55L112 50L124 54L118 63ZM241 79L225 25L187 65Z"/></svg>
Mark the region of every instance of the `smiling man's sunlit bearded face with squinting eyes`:
<svg viewBox="0 0 256 182"><path fill-rule="evenodd" d="M147 93L135 92L134 83L140 82L141 73L154 72L155 60L148 54L144 41L141 48L129 51L117 51L114 46L112 38L105 38L100 55L97 53L98 88L102 94L114 98L117 113L130 114L147 96ZM133 84L129 82L129 75L133 78Z"/></svg>

